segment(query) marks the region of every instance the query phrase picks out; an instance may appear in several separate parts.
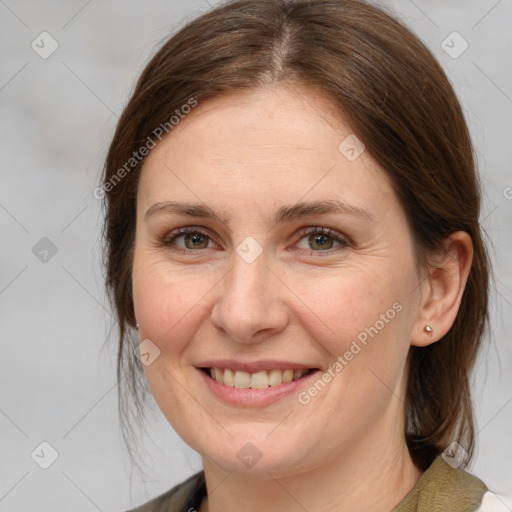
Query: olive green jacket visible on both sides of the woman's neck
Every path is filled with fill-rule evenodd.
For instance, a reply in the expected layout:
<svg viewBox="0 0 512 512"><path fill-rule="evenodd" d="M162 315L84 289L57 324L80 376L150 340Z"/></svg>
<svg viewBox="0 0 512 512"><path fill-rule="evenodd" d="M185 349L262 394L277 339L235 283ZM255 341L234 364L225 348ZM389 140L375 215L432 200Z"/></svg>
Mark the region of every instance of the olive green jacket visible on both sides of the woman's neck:
<svg viewBox="0 0 512 512"><path fill-rule="evenodd" d="M477 477L452 468L439 456L390 512L476 512L486 491ZM205 495L204 471L200 471L129 512L195 512Z"/></svg>

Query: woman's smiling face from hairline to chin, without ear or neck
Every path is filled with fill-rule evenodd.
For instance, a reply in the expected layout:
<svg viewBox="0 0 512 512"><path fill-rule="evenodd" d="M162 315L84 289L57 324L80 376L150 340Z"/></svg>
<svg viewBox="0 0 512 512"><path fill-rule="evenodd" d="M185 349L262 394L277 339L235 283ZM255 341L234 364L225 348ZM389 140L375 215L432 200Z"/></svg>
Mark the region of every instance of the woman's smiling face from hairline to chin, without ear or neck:
<svg viewBox="0 0 512 512"><path fill-rule="evenodd" d="M350 135L314 92L230 93L144 164L144 370L178 434L227 471L293 474L403 442L419 276L397 196Z"/></svg>

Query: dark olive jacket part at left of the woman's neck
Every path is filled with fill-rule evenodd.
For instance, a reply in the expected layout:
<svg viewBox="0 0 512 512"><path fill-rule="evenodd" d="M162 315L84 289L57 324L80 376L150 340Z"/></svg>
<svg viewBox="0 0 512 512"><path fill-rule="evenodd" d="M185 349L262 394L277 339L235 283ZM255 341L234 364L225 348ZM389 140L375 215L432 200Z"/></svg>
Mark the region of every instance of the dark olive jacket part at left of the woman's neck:
<svg viewBox="0 0 512 512"><path fill-rule="evenodd" d="M204 471L199 471L164 494L127 512L187 512L190 508L199 508L205 494Z"/></svg>

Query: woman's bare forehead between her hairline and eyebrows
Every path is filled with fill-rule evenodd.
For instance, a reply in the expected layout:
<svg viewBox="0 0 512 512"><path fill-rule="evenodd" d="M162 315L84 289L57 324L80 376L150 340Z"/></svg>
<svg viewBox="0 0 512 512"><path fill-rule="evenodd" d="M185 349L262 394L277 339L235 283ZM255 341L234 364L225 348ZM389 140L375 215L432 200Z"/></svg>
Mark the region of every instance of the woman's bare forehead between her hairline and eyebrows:
<svg viewBox="0 0 512 512"><path fill-rule="evenodd" d="M138 203L186 196L273 207L329 195L360 206L373 202L374 210L380 202L385 211L396 201L387 176L367 152L350 160L340 151L351 137L333 103L309 90L217 96L199 103L151 150Z"/></svg>

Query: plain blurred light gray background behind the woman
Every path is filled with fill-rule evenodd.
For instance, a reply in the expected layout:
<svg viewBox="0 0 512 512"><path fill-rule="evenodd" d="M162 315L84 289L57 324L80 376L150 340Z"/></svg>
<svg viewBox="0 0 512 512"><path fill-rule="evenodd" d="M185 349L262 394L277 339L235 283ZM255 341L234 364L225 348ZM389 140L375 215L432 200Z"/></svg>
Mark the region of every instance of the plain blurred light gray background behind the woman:
<svg viewBox="0 0 512 512"><path fill-rule="evenodd" d="M474 388L472 471L512 496L512 3L386 4L439 58L476 145L496 287ZM104 346L111 317L92 191L148 57L208 8L205 0L0 0L1 511L119 511L201 468L155 411L142 435L145 476L132 471L117 420L115 337ZM43 31L59 45L46 59L31 48ZM469 44L456 59L441 46L453 31ZM43 237L57 249L46 262L33 253ZM31 458L42 441L59 454L46 470Z"/></svg>

